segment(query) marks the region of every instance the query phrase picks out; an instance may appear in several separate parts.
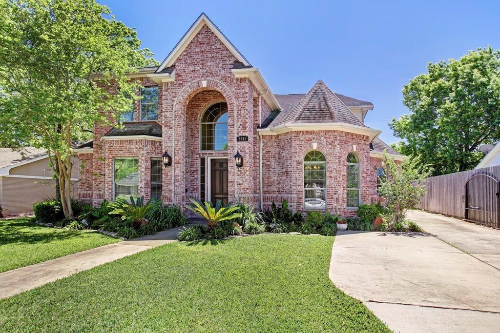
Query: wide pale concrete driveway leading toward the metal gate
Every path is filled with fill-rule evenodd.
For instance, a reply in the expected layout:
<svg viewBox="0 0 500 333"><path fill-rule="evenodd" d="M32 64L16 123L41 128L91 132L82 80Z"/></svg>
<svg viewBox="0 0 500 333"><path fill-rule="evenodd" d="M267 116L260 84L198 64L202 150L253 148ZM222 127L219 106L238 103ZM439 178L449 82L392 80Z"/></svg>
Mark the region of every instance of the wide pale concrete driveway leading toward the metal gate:
<svg viewBox="0 0 500 333"><path fill-rule="evenodd" d="M329 272L333 283L395 332L498 332L500 270L467 252L492 251L481 239L486 234L494 241L500 231L467 225L459 237L439 216L410 216L429 233L338 233ZM431 230L450 243L466 243L468 251ZM497 254L480 256L498 263Z"/></svg>

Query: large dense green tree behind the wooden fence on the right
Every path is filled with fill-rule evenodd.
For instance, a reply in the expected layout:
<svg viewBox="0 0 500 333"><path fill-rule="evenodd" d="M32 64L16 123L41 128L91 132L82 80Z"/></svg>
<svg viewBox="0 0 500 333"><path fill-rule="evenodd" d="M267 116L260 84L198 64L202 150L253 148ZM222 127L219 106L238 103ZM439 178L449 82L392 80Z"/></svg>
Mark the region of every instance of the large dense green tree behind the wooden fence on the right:
<svg viewBox="0 0 500 333"><path fill-rule="evenodd" d="M410 112L389 123L403 139L394 148L434 175L469 170L483 157L478 146L500 140L500 52L478 48L427 69L404 86Z"/></svg>

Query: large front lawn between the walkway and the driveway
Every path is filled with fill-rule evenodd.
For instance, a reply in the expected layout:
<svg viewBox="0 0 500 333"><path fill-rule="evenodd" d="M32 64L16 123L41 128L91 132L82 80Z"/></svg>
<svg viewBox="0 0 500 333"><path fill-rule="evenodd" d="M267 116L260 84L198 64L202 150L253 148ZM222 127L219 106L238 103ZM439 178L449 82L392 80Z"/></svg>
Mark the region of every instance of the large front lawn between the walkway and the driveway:
<svg viewBox="0 0 500 333"><path fill-rule="evenodd" d="M167 244L0 300L0 328L388 332L328 279L332 243L324 236L258 235Z"/></svg>

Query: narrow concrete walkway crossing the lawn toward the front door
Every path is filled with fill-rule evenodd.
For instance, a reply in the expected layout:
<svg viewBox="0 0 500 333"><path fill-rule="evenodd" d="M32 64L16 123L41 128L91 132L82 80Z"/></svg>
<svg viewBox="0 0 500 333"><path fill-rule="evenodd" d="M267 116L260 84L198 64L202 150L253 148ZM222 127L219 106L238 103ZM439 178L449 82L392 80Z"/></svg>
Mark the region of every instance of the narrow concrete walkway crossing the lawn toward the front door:
<svg viewBox="0 0 500 333"><path fill-rule="evenodd" d="M46 283L86 271L134 253L175 242L179 228L172 228L135 238L130 241L104 245L69 256L21 267L0 274L0 299L13 296Z"/></svg>

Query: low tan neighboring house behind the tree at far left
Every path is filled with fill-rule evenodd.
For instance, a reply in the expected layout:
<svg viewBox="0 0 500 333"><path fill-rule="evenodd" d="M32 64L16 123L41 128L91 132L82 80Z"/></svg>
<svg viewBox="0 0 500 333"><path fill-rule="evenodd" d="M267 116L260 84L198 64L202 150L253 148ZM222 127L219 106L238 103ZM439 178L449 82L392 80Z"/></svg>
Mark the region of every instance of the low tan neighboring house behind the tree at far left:
<svg viewBox="0 0 500 333"><path fill-rule="evenodd" d="M78 180L78 160L73 160L71 180ZM73 182L73 195L76 184ZM29 215L33 204L55 196L55 181L44 149L0 148L0 206L4 216Z"/></svg>

